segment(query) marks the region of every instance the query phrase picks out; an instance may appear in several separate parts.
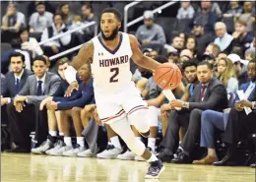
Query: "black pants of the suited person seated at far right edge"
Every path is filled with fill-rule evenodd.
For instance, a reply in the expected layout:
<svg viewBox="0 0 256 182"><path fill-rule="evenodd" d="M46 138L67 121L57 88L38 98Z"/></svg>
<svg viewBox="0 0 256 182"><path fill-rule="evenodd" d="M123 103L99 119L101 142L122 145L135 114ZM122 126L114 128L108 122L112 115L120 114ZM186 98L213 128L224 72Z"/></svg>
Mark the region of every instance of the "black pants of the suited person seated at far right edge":
<svg viewBox="0 0 256 182"><path fill-rule="evenodd" d="M256 112L246 115L245 111L232 108L229 112L223 141L236 146L242 136L256 132Z"/></svg>

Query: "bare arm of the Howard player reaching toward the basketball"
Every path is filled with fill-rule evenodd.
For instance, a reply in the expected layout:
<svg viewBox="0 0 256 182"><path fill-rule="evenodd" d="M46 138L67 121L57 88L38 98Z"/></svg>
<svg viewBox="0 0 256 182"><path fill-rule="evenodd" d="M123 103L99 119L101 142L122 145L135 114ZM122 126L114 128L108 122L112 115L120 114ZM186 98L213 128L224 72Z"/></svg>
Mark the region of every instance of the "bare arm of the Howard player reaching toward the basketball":
<svg viewBox="0 0 256 182"><path fill-rule="evenodd" d="M129 34L129 38L131 48L133 51L132 59L135 62L135 64L148 70L155 71L160 66L160 63L150 57L143 55L142 51L139 48L139 42L134 35Z"/></svg>

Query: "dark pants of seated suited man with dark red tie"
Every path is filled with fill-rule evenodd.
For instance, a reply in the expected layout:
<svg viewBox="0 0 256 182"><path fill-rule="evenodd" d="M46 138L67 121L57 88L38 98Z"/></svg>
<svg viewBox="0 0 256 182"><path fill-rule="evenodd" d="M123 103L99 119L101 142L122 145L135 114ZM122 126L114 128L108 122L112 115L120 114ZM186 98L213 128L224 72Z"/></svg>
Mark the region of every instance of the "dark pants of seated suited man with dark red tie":
<svg viewBox="0 0 256 182"><path fill-rule="evenodd" d="M172 154L176 152L179 144L179 129L181 126L187 128L186 135L181 143L181 148L189 155L195 148L195 143L200 137L202 110L192 111L171 110L168 120L168 127L161 146L169 149Z"/></svg>

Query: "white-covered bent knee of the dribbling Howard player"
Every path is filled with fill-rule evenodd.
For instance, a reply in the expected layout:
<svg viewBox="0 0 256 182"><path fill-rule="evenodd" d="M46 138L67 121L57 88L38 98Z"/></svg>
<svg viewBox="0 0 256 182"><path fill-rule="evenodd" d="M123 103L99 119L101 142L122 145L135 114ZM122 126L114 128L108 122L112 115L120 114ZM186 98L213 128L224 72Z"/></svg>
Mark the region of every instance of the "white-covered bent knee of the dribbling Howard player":
<svg viewBox="0 0 256 182"><path fill-rule="evenodd" d="M129 121L141 133L147 133L150 130L148 109L137 110L128 116Z"/></svg>

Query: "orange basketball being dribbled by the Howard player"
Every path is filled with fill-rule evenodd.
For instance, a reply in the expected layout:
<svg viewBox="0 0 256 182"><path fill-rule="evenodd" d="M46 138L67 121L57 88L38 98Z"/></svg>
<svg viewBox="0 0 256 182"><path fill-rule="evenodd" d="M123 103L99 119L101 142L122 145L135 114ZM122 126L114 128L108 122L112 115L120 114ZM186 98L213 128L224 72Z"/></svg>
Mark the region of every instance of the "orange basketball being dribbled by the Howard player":
<svg viewBox="0 0 256 182"><path fill-rule="evenodd" d="M163 63L157 68L154 79L160 89L174 90L181 82L181 77L181 72L175 64Z"/></svg>

